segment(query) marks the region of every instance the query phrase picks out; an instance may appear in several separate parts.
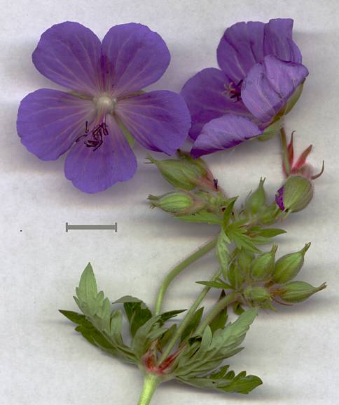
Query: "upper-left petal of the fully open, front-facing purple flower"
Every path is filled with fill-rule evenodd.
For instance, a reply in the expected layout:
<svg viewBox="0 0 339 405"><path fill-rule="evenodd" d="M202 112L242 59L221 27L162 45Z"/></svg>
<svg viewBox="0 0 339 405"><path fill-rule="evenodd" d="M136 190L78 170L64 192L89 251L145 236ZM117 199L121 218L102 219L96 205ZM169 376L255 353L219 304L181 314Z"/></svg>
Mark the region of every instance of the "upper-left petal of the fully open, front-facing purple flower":
<svg viewBox="0 0 339 405"><path fill-rule="evenodd" d="M32 55L36 69L48 79L89 95L102 86L100 58L98 37L70 21L47 29Z"/></svg>

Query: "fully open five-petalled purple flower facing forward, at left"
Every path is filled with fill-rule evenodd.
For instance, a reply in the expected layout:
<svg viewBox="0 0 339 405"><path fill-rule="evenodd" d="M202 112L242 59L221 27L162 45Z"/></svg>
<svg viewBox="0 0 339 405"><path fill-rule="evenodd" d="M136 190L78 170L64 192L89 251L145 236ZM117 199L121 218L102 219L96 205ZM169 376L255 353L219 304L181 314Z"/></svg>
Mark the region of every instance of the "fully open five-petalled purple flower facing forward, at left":
<svg viewBox="0 0 339 405"><path fill-rule="evenodd" d="M41 88L27 95L19 107L18 134L43 160L69 150L64 172L83 192L132 178L132 137L166 154L184 142L191 118L181 96L141 92L170 64L165 42L148 27L116 25L101 43L83 25L62 22L42 34L32 59L41 74L71 91Z"/></svg>

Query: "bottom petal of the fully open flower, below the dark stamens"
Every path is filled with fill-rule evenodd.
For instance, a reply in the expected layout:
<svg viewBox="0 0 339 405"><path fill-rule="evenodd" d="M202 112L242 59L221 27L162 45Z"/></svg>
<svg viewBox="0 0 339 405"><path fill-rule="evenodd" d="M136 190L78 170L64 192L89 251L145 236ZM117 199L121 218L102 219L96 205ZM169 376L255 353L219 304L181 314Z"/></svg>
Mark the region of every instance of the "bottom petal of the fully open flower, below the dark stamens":
<svg viewBox="0 0 339 405"><path fill-rule="evenodd" d="M106 116L106 125L109 134L104 135L97 150L78 142L67 155L64 173L83 192L104 191L116 182L129 180L137 170L137 159L111 115Z"/></svg>

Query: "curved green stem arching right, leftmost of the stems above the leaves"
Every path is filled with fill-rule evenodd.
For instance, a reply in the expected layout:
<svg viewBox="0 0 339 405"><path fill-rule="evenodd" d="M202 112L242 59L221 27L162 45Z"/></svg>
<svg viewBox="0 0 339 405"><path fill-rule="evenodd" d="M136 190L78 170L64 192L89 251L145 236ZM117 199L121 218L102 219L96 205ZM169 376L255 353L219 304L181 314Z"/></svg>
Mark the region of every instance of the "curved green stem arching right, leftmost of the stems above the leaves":
<svg viewBox="0 0 339 405"><path fill-rule="evenodd" d="M165 280L162 281L162 284L161 284L159 292L158 292L158 296L157 296L157 300L156 300L156 304L155 304L155 315L160 314L161 309L162 309L162 303L163 303L163 300L165 297L165 293L167 291L167 288L170 286L171 282L173 281L173 279L175 277L177 277L177 275L180 274L182 272L182 270L184 270L186 267L191 265L191 263L195 262L195 260L198 260L203 255L205 255L206 253L211 251L212 248L214 248L214 246L216 246L217 240L218 240L218 238L216 237L212 241L208 242L207 244L205 244L204 246L199 248L198 251L195 251L192 255L188 256L188 258L186 258L184 261L179 263L179 265L174 267L174 269L171 270L169 274L167 274L167 276L165 277Z"/></svg>

